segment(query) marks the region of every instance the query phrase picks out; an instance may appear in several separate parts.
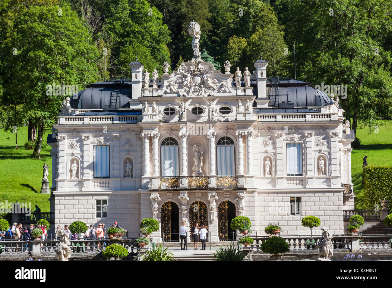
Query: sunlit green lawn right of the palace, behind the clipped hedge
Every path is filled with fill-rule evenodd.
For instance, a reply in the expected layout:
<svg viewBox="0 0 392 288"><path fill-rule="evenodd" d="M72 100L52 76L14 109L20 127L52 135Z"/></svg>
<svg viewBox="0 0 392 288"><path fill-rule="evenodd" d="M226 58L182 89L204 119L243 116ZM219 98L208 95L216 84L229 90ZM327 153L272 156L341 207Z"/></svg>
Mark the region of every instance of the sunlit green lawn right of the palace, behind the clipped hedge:
<svg viewBox="0 0 392 288"><path fill-rule="evenodd" d="M363 156L366 155L368 165L392 166L392 124L388 121L379 121L378 133L374 129L369 134L368 128L358 128L357 135L361 140L359 149L351 152L351 174L354 184L355 208L367 209L364 198L365 188L362 185L362 163Z"/></svg>

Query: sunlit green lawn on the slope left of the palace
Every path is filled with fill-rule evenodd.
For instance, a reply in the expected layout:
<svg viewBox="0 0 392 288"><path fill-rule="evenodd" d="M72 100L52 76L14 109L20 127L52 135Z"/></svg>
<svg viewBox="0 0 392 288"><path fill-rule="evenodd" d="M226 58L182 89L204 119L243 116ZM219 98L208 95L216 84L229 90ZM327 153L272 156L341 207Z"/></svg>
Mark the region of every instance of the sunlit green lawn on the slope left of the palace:
<svg viewBox="0 0 392 288"><path fill-rule="evenodd" d="M47 132L44 135L46 143ZM27 127L18 128L18 150L15 150L15 134L0 129L0 201L5 202L31 202L42 212L49 212L49 194L40 194L42 166L44 162L49 165L49 187L52 185L52 158L51 147L47 145L41 149L41 159L33 159L33 150L25 150L27 141Z"/></svg>

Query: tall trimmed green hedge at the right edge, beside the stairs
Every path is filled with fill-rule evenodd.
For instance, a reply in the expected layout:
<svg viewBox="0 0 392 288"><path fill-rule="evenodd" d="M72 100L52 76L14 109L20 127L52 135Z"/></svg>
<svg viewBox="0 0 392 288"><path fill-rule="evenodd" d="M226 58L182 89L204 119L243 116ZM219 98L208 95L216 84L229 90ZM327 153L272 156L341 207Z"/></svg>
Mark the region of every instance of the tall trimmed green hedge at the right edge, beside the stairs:
<svg viewBox="0 0 392 288"><path fill-rule="evenodd" d="M368 209L374 209L378 205L381 210L380 200L384 198L392 205L392 167L367 166L363 170L363 180Z"/></svg>

